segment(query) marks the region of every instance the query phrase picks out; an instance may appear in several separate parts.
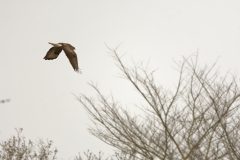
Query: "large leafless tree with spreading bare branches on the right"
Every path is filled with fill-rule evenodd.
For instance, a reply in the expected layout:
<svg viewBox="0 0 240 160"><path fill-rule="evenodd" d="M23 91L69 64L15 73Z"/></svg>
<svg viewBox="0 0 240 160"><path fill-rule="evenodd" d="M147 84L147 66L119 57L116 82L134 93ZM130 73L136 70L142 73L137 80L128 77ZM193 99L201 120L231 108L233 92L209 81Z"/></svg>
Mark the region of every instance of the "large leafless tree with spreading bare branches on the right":
<svg viewBox="0 0 240 160"><path fill-rule="evenodd" d="M231 73L221 77L211 67L200 68L197 55L176 63L175 89L156 83L154 70L134 63L126 67L111 49L122 77L147 105L132 116L113 96L105 97L93 83L98 100L81 94L78 100L94 126L91 134L118 149L122 159L240 159L239 86Z"/></svg>

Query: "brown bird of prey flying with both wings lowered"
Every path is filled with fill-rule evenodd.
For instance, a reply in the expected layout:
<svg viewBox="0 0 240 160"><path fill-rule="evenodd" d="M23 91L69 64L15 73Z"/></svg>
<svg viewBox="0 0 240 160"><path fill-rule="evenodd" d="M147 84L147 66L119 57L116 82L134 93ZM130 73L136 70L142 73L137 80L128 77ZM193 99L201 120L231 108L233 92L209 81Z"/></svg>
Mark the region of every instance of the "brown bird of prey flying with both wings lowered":
<svg viewBox="0 0 240 160"><path fill-rule="evenodd" d="M63 50L66 56L68 57L74 71L82 73L78 67L77 54L74 52L75 47L68 43L50 43L50 42L48 43L53 45L53 47L49 49L49 51L47 52L46 56L43 59L45 60L56 59Z"/></svg>

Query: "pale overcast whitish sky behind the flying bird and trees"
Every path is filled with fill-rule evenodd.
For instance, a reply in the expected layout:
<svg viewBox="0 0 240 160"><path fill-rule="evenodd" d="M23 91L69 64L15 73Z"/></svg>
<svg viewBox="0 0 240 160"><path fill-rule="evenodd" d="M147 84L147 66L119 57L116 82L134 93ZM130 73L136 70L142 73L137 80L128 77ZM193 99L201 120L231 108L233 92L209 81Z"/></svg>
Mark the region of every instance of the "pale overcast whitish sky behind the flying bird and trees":
<svg viewBox="0 0 240 160"><path fill-rule="evenodd" d="M62 52L45 61L48 42L76 48L82 74ZM73 94L95 96L87 82L130 104L138 94L111 59L107 43L126 52L124 62L150 59L158 81L171 86L174 62L199 50L200 64L219 56L220 70L240 69L239 0L0 0L0 140L22 127L26 138L53 140L59 159L78 152L111 153L87 132L90 120ZM73 94L72 94L73 93Z"/></svg>

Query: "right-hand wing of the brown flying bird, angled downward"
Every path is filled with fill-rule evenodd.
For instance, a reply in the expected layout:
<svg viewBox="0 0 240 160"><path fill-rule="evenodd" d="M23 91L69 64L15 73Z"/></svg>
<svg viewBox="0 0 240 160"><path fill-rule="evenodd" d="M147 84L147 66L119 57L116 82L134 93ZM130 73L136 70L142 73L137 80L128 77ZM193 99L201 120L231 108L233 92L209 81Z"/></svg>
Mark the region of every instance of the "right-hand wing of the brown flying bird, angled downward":
<svg viewBox="0 0 240 160"><path fill-rule="evenodd" d="M70 44L67 44L67 43L63 43L62 48L63 48L66 56L68 57L73 69L76 72L81 73L80 69L78 68L77 54L74 52L75 48L73 46L71 46Z"/></svg>

